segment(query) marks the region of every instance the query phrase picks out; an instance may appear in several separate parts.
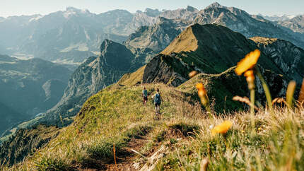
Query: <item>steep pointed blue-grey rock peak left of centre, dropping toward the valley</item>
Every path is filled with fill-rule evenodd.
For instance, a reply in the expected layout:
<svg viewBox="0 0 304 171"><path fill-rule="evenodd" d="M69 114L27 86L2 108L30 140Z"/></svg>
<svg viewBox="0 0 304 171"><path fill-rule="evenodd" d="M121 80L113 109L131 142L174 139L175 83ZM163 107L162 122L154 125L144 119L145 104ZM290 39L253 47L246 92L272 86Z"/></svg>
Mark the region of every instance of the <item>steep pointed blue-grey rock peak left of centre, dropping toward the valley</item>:
<svg viewBox="0 0 304 171"><path fill-rule="evenodd" d="M74 71L62 99L39 122L49 124L58 122L59 117L76 115L91 95L115 83L129 71L134 54L124 45L105 40L100 50L100 57L89 57Z"/></svg>

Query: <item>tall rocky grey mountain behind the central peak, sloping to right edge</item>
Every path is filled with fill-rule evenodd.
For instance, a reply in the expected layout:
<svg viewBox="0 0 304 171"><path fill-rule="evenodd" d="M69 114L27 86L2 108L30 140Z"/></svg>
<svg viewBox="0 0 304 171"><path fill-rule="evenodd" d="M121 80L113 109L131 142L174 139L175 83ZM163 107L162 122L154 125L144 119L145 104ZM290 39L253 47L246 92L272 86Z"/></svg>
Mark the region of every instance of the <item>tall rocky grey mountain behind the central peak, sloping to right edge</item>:
<svg viewBox="0 0 304 171"><path fill-rule="evenodd" d="M279 25L271 23L259 16L250 16L245 11L234 7L221 6L214 3L199 11L194 23L211 24L216 23L226 26L233 31L242 33L246 37L274 37L293 42L293 44L304 47L304 41L290 32L283 30Z"/></svg>

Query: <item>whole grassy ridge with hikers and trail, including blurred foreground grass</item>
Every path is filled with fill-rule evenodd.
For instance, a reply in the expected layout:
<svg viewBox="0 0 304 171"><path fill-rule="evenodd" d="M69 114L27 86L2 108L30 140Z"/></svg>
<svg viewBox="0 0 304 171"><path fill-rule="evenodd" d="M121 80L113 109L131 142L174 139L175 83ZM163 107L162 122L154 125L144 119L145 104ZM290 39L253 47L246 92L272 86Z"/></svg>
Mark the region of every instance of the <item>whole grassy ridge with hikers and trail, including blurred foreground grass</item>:
<svg viewBox="0 0 304 171"><path fill-rule="evenodd" d="M250 114L208 118L195 99L197 92L187 84L146 88L149 93L160 88L161 119L155 119L151 100L147 107L142 105L141 86L110 86L89 98L74 123L47 147L11 170L107 169L114 163L114 144L120 163L134 156L128 151L130 142L143 136L146 141L138 151L147 158L165 147L154 170L199 170L203 158L208 158L209 170L304 169L303 109L280 108L271 115L261 108L255 116L257 134L252 136ZM212 136L210 126L227 119L233 123L228 134ZM130 162L140 168L147 160L135 155Z"/></svg>

